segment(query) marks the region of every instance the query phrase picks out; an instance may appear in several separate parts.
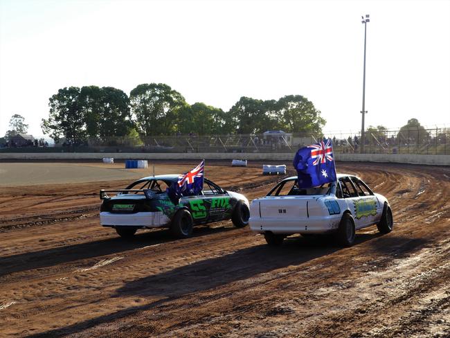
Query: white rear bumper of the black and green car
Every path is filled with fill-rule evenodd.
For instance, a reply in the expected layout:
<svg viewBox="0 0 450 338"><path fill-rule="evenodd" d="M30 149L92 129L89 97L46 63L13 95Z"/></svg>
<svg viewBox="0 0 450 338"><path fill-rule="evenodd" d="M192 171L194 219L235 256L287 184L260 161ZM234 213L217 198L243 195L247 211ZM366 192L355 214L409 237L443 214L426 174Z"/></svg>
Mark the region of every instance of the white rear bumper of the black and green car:
<svg viewBox="0 0 450 338"><path fill-rule="evenodd" d="M161 211L145 213L100 213L102 226L139 226L145 228L158 228L170 222L170 218Z"/></svg>

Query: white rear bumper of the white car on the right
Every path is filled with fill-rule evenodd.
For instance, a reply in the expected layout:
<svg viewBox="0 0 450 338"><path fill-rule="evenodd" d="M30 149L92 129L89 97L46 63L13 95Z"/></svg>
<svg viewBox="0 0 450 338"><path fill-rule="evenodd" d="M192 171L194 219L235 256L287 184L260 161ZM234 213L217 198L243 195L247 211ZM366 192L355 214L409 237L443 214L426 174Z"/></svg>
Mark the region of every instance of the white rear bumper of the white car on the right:
<svg viewBox="0 0 450 338"><path fill-rule="evenodd" d="M327 217L309 217L307 219L291 219L278 217L250 217L250 229L257 233L327 233L338 229L341 215Z"/></svg>

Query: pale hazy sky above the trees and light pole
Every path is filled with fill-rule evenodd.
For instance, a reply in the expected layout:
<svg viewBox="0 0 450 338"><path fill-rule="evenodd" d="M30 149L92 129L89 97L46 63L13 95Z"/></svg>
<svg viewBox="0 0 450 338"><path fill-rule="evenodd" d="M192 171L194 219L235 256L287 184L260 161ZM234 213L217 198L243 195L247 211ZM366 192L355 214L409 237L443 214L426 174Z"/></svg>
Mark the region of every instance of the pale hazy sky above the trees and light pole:
<svg viewBox="0 0 450 338"><path fill-rule="evenodd" d="M0 0L0 135L57 89L163 82L192 104L300 94L325 131L450 127L450 1Z"/></svg>

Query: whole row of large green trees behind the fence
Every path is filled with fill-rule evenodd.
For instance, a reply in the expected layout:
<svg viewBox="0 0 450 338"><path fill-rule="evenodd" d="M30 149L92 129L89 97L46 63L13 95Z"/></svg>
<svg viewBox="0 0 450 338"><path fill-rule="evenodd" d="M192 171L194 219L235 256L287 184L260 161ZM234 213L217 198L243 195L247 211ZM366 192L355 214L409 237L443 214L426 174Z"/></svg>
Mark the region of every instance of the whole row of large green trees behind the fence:
<svg viewBox="0 0 450 338"><path fill-rule="evenodd" d="M224 112L194 103L168 84L139 84L129 96L113 87L64 87L49 99L42 131L69 143L111 136L147 137L180 134L256 134L267 130L319 132L325 119L301 95L278 100L242 96Z"/></svg>

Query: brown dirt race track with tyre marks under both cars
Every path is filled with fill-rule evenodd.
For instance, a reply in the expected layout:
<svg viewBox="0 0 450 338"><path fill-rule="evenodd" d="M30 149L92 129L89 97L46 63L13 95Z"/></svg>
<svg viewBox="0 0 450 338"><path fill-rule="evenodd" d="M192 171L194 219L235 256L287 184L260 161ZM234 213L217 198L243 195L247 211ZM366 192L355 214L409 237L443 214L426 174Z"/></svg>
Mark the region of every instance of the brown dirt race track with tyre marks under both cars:
<svg viewBox="0 0 450 338"><path fill-rule="evenodd" d="M279 179L222 164L207 176L249 199ZM271 248L220 222L123 240L99 225L98 190L129 179L2 181L0 337L450 337L450 168L337 165L388 197L392 233Z"/></svg>

